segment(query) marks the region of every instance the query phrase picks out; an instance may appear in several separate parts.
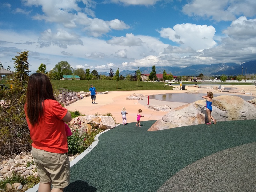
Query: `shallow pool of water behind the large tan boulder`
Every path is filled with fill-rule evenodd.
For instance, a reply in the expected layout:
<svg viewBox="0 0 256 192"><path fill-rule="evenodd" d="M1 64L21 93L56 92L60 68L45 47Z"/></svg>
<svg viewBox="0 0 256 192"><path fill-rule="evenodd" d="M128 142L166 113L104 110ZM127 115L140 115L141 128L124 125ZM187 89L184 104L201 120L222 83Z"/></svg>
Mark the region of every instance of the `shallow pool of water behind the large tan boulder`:
<svg viewBox="0 0 256 192"><path fill-rule="evenodd" d="M150 99L156 99L160 101L170 101L170 102L182 102L182 103L193 103L197 100L203 99L202 96L205 93L168 93L161 95L150 95ZM223 94L214 93L213 96L217 97ZM241 97L245 101L249 101L255 98L255 96L245 96L245 95L235 95Z"/></svg>

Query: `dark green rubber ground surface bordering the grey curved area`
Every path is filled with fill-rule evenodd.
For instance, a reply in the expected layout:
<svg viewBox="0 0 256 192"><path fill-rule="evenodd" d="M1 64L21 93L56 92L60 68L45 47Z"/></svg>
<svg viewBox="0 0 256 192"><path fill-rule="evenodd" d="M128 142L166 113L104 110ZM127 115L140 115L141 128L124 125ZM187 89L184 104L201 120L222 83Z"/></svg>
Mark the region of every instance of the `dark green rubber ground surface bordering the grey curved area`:
<svg viewBox="0 0 256 192"><path fill-rule="evenodd" d="M64 192L156 192L189 164L256 141L255 120L148 132L154 122L119 125L101 134L97 146L71 167Z"/></svg>

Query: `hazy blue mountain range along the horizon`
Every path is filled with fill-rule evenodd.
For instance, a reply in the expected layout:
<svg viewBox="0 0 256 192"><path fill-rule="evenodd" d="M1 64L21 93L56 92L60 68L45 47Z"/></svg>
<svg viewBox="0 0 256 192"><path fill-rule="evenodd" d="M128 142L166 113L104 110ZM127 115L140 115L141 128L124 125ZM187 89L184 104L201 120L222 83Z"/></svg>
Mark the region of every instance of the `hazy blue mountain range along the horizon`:
<svg viewBox="0 0 256 192"><path fill-rule="evenodd" d="M236 63L216 63L216 64L196 64L185 68L181 67L168 67L168 66L156 66L156 73L163 73L166 71L167 74L172 73L175 76L198 76L200 73L206 76L237 76L245 74L256 74L256 60L249 61L243 64ZM152 71L152 67L141 67L140 71L142 74L149 74ZM115 71L113 71L115 74ZM109 76L107 72L99 72ZM135 75L135 71L124 70L119 72L119 75Z"/></svg>

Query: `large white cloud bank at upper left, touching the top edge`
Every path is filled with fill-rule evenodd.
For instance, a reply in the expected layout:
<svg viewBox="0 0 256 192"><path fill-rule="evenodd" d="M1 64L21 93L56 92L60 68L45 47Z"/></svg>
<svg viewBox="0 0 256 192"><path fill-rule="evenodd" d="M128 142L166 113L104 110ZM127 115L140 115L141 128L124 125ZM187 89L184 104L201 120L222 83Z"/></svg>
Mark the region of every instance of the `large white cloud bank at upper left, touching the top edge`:
<svg viewBox="0 0 256 192"><path fill-rule="evenodd" d="M44 14L37 13L33 16L35 20L45 20L51 23L58 23L66 28L83 28L84 31L91 36L99 37L103 34L113 30L128 29L130 26L124 23L124 21L114 19L111 21L104 21L99 18L89 18L89 16L95 17L95 13L90 7L95 6L94 1L82 0L82 2L88 6L83 10L78 6L77 1L68 0L56 0L56 1L44 1L44 0L23 0L27 6L42 6Z"/></svg>

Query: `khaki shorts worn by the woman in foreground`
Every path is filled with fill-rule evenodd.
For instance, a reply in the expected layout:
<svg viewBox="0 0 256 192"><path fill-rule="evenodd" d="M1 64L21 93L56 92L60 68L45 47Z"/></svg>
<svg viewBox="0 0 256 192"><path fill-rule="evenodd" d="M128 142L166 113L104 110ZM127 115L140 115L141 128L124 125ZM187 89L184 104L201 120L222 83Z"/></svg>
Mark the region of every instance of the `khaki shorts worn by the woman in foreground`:
<svg viewBox="0 0 256 192"><path fill-rule="evenodd" d="M51 153L32 147L31 154L36 162L40 183L52 182L53 189L65 188L69 185L68 153Z"/></svg>

